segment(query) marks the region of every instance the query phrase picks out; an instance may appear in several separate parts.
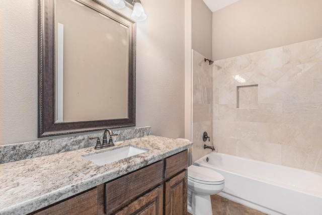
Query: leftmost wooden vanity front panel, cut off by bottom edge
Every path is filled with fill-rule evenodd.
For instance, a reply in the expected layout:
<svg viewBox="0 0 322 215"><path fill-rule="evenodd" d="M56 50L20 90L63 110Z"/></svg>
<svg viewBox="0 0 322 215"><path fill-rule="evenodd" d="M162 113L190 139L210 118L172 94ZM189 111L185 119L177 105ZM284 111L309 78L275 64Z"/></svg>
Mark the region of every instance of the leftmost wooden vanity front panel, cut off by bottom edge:
<svg viewBox="0 0 322 215"><path fill-rule="evenodd" d="M49 205L43 209L32 212L29 215L97 214L97 197L98 190L97 188L93 188L89 191L85 191L75 196L71 196L66 200L59 201L53 205Z"/></svg>

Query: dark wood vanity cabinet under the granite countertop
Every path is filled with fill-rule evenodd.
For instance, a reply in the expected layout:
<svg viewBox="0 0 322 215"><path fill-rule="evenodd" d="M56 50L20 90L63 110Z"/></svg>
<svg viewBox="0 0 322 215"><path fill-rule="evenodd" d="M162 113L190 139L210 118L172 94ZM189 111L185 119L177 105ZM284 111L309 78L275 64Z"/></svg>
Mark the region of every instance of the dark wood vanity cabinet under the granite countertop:
<svg viewBox="0 0 322 215"><path fill-rule="evenodd" d="M187 150L31 214L187 214Z"/></svg>

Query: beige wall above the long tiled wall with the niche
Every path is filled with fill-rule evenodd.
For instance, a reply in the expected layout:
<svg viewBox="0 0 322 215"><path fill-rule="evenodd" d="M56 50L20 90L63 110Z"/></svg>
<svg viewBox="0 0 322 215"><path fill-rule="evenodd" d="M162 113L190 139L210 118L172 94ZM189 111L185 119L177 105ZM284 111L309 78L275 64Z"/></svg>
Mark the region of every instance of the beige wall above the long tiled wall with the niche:
<svg viewBox="0 0 322 215"><path fill-rule="evenodd" d="M322 37L321 0L241 0L212 15L215 60Z"/></svg>

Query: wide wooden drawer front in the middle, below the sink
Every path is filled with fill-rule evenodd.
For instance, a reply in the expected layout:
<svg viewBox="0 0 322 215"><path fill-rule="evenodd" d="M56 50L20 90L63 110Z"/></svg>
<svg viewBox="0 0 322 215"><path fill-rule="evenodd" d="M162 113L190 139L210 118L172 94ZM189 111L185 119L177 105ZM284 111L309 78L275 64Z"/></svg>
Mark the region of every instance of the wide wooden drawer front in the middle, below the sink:
<svg viewBox="0 0 322 215"><path fill-rule="evenodd" d="M105 212L111 214L149 189L163 183L163 161L105 184Z"/></svg>

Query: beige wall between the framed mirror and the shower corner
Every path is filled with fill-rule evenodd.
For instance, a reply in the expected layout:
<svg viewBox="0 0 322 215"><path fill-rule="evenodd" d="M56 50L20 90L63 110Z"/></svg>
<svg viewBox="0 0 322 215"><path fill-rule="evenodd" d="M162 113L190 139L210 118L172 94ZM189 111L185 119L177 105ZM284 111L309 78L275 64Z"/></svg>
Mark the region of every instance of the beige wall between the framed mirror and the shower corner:
<svg viewBox="0 0 322 215"><path fill-rule="evenodd" d="M184 136L184 4L142 1L148 18L137 25L136 124L172 138Z"/></svg>

